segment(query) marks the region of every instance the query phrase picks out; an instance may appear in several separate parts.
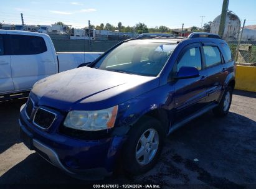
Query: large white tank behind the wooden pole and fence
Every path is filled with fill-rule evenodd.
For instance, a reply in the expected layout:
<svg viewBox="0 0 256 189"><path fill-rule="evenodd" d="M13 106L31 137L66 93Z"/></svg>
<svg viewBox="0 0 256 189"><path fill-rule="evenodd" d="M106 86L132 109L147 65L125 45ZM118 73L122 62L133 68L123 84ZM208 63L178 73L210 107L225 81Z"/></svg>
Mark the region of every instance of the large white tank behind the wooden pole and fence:
<svg viewBox="0 0 256 189"><path fill-rule="evenodd" d="M218 34L220 17L221 15L217 16L216 19L214 19L214 21L212 22L211 33ZM239 17L236 14L234 14L234 12L228 11L227 16L225 18L225 29L222 38L225 40L237 39L239 36L240 27L241 21Z"/></svg>

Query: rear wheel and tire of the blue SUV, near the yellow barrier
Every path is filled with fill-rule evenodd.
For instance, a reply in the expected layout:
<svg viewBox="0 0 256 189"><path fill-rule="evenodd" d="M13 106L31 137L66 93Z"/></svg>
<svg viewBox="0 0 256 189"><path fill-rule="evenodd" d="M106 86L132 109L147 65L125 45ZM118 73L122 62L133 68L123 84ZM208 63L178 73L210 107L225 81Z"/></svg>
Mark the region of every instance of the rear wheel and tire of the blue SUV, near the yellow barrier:
<svg viewBox="0 0 256 189"><path fill-rule="evenodd" d="M229 108L232 101L233 89L231 86L227 86L225 92L220 100L219 106L214 108L212 111L218 117L224 117L229 113Z"/></svg>

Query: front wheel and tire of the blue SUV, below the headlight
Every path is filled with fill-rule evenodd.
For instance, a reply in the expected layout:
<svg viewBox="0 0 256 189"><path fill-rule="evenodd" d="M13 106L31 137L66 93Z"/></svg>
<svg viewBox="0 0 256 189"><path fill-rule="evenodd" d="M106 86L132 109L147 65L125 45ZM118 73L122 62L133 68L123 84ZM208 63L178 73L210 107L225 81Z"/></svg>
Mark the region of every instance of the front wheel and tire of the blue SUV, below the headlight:
<svg viewBox="0 0 256 189"><path fill-rule="evenodd" d="M154 136L152 140L149 140L150 134ZM123 169L132 175L139 175L153 168L161 154L164 137L161 122L149 116L141 118L131 127L123 146Z"/></svg>

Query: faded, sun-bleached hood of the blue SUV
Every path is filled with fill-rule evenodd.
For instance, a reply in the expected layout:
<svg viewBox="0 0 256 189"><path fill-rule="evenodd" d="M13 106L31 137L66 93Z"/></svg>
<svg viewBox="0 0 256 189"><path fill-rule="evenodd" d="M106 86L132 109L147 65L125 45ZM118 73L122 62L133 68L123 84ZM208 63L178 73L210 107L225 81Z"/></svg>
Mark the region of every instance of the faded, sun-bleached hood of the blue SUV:
<svg viewBox="0 0 256 189"><path fill-rule="evenodd" d="M123 103L158 85L156 77L82 67L37 81L31 96L39 106L96 110Z"/></svg>

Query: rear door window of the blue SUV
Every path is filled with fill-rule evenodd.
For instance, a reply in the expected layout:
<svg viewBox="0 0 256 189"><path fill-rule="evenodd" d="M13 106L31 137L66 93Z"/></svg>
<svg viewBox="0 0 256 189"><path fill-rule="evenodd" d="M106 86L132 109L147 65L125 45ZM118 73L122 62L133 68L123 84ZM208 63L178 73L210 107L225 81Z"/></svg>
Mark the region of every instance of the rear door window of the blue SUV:
<svg viewBox="0 0 256 189"><path fill-rule="evenodd" d="M203 46L206 67L212 67L221 63L219 48L215 46Z"/></svg>

